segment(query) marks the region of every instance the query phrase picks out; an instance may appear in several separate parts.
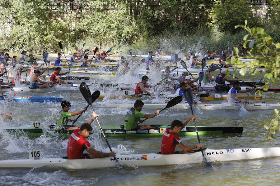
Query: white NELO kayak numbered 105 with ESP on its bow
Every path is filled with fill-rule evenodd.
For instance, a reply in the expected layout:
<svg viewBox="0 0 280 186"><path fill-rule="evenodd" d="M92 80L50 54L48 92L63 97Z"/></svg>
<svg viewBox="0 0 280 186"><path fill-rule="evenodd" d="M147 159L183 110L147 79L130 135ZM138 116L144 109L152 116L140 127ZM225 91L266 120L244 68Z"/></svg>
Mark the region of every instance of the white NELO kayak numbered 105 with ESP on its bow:
<svg viewBox="0 0 280 186"><path fill-rule="evenodd" d="M280 156L279 147L271 148L226 148L226 149L204 149L205 157L209 162L251 160L263 157ZM120 166L163 166L202 163L200 149L181 154L140 153L140 154L116 154L113 157L102 157L92 159L67 159L67 157L42 158L42 159L19 159L2 160L0 167L42 167L50 166L66 169L100 169Z"/></svg>

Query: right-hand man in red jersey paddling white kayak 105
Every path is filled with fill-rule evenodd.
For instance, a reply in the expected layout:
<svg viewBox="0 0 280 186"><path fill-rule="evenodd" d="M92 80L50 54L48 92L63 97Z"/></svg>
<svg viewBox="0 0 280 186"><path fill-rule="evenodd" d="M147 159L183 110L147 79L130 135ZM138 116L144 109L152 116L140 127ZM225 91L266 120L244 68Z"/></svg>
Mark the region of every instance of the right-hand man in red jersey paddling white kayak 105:
<svg viewBox="0 0 280 186"><path fill-rule="evenodd" d="M178 154L192 151L194 148L202 147L202 144L196 144L193 146L186 146L183 144L182 140L176 136L179 132L188 124L190 120L194 121L195 116L192 115L187 121L182 123L181 121L175 119L170 126L170 129L165 131L162 135L161 140L161 154ZM175 151L175 147L178 145L183 150Z"/></svg>

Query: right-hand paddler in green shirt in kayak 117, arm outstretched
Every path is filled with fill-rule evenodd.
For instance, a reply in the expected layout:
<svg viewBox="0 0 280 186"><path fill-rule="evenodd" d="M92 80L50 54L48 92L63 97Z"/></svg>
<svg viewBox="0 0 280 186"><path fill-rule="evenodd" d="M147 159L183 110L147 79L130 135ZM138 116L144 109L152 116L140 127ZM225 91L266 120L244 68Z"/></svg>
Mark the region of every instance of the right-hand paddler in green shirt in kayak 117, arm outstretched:
<svg viewBox="0 0 280 186"><path fill-rule="evenodd" d="M159 115L160 110L156 111L156 114L144 114L140 112L143 108L144 103L141 100L136 100L134 103L134 107L130 108L125 116L124 130L131 129L150 129L152 128L150 125L137 125L138 122L142 122L141 118L153 118Z"/></svg>

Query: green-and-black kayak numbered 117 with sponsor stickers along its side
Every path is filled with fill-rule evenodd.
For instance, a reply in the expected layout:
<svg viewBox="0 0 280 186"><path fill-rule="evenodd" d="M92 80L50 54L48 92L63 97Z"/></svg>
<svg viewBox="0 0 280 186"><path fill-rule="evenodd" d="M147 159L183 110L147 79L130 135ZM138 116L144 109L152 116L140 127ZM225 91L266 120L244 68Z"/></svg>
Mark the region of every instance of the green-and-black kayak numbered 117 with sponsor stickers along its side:
<svg viewBox="0 0 280 186"><path fill-rule="evenodd" d="M73 125L68 125L68 127ZM124 130L124 126L102 126L102 130L106 136L162 136L164 131L170 129L170 126L151 125L151 129L132 129ZM42 133L48 135L60 135L69 137L73 130L54 130L54 125L49 125L42 128L40 127L5 127L1 131L9 132L9 134L27 135L27 136L41 136ZM243 127L236 126L197 126L199 135L207 134L229 134L229 133L242 133ZM98 130L98 132L101 131ZM194 126L186 126L178 134L179 136L196 135Z"/></svg>

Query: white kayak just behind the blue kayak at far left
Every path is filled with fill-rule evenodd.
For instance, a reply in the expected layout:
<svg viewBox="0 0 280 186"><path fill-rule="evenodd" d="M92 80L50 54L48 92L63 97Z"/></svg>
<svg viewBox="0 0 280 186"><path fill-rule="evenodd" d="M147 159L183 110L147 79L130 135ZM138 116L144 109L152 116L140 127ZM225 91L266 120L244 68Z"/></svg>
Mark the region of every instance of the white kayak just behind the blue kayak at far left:
<svg viewBox="0 0 280 186"><path fill-rule="evenodd" d="M11 92L10 88L3 88L3 92ZM30 89L29 87L12 87L12 91L15 92L53 92L53 91L59 91L59 92L79 92L79 87L50 87L50 88L36 88L36 89Z"/></svg>

